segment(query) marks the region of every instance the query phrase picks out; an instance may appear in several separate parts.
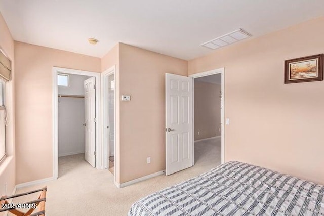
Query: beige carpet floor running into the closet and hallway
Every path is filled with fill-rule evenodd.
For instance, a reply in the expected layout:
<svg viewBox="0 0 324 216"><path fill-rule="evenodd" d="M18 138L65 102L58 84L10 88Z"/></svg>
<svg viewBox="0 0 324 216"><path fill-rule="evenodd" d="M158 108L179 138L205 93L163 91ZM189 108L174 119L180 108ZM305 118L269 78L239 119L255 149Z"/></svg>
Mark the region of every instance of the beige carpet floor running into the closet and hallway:
<svg viewBox="0 0 324 216"><path fill-rule="evenodd" d="M137 199L219 165L220 146L220 138L196 142L193 167L120 189L114 186L113 175L108 170L91 167L83 154L60 157L58 180L23 188L17 193L47 186L46 215L127 215ZM15 199L15 202L22 201Z"/></svg>

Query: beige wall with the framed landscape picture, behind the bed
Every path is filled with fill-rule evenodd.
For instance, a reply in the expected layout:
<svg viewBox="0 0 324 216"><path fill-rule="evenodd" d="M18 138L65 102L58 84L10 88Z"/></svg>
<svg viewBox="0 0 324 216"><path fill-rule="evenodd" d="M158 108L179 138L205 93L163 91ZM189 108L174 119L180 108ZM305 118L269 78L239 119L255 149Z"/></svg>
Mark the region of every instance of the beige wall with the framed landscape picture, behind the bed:
<svg viewBox="0 0 324 216"><path fill-rule="evenodd" d="M324 17L189 61L225 67L225 161L324 184L324 81L284 84L284 61L324 53Z"/></svg>

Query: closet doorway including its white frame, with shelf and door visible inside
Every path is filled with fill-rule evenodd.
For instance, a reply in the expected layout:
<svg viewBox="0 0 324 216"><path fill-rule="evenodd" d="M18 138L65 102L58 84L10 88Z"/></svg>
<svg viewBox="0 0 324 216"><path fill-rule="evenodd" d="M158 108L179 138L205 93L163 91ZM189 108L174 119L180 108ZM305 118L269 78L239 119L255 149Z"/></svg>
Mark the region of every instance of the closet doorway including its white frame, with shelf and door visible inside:
<svg viewBox="0 0 324 216"><path fill-rule="evenodd" d="M100 86L100 73L53 67L54 179L59 156L101 169Z"/></svg>

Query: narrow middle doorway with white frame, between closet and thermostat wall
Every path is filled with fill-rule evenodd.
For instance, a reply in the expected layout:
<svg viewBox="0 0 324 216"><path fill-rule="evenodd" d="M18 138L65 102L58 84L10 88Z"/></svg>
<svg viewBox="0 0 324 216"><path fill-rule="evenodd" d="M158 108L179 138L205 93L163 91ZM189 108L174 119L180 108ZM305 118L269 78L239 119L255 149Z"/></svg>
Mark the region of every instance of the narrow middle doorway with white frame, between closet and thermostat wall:
<svg viewBox="0 0 324 216"><path fill-rule="evenodd" d="M114 176L116 170L115 154L115 107L116 107L116 77L115 66L107 69L101 74L102 85L102 143L105 152L104 168L108 169Z"/></svg>

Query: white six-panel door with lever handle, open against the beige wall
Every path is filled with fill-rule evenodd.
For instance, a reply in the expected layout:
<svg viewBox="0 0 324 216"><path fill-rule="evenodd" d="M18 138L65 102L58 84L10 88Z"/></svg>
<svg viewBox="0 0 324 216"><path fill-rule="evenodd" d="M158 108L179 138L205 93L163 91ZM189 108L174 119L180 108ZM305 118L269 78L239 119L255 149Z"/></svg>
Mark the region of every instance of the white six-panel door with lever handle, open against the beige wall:
<svg viewBox="0 0 324 216"><path fill-rule="evenodd" d="M192 78L166 73L166 175L193 165Z"/></svg>

